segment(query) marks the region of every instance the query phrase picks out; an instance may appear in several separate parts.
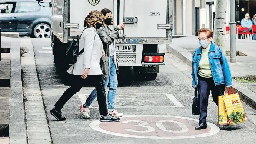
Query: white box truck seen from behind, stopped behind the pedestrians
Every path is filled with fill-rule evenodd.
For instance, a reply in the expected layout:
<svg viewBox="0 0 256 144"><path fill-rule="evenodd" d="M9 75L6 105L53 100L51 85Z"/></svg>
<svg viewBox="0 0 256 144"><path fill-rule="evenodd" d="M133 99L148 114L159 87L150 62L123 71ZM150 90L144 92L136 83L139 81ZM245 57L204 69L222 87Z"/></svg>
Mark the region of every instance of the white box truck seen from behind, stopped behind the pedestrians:
<svg viewBox="0 0 256 144"><path fill-rule="evenodd" d="M127 74L133 67L138 78L156 79L159 65L165 65L158 45L172 44L172 3L173 0L52 0L54 63L64 63L66 49L81 34L86 15L108 8L115 25L126 24L115 41L120 74Z"/></svg>

